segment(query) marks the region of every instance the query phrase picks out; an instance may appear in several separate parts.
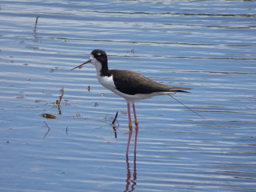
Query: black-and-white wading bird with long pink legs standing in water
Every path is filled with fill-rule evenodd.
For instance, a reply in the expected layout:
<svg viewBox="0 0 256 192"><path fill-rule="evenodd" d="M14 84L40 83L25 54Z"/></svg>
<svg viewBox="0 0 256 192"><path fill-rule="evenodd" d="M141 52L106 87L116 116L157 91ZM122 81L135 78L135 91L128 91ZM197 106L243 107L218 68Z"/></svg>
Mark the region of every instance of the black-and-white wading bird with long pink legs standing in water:
<svg viewBox="0 0 256 192"><path fill-rule="evenodd" d="M90 53L90 59L83 62L73 69L81 69L83 65L91 63L96 68L98 82L106 89L111 90L114 94L126 99L128 114L128 142L126 146L126 155L129 154L130 140L133 134L133 124L131 120L130 106L133 108L135 138L134 138L134 154L137 151L138 139L138 118L135 109L135 102L151 98L162 94L175 94L177 92L190 93L186 90L190 88L167 86L154 80L147 78L142 74L138 74L132 70L110 70L108 67L108 59L104 50L93 50Z"/></svg>

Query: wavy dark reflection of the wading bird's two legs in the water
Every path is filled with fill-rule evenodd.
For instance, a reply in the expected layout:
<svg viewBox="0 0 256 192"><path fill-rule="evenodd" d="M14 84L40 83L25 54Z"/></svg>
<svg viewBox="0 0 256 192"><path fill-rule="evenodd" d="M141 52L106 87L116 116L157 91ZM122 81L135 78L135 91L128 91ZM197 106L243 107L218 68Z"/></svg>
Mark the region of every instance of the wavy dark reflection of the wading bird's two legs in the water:
<svg viewBox="0 0 256 192"><path fill-rule="evenodd" d="M130 172L130 162L129 162L128 154L126 154L126 170L127 170L126 190L124 190L124 192L134 191L135 186L136 186L136 180L137 180L136 154L134 154L134 172L133 172L133 175Z"/></svg>

